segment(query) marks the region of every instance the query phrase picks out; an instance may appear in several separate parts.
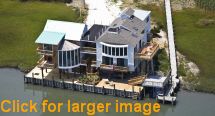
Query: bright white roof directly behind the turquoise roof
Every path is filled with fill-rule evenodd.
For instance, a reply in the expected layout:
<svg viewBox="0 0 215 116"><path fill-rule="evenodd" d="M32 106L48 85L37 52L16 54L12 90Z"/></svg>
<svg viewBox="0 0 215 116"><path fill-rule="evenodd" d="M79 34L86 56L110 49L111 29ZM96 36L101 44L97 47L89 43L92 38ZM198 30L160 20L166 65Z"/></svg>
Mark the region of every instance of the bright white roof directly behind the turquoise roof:
<svg viewBox="0 0 215 116"><path fill-rule="evenodd" d="M87 31L87 26L82 23L47 20L44 31L65 33L66 40L80 41Z"/></svg>

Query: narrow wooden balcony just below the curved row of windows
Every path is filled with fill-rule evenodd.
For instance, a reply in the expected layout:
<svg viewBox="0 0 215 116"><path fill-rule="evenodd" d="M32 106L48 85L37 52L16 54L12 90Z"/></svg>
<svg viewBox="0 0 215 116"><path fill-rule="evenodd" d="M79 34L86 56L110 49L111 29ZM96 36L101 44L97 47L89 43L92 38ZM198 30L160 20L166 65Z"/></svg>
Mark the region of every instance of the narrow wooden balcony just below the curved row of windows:
<svg viewBox="0 0 215 116"><path fill-rule="evenodd" d="M100 65L101 69L104 70L112 70L116 72L128 72L128 67L123 67L123 66L116 66L116 65L106 65L106 64L101 64Z"/></svg>

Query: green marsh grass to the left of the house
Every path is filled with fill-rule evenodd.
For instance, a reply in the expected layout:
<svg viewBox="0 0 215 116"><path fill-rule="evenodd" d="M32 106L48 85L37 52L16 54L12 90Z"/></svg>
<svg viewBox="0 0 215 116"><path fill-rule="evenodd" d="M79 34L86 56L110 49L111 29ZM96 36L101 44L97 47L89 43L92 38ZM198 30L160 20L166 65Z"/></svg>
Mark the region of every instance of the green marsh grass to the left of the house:
<svg viewBox="0 0 215 116"><path fill-rule="evenodd" d="M46 20L81 21L79 12L55 2L0 1L0 66L32 68L38 60L36 38Z"/></svg>

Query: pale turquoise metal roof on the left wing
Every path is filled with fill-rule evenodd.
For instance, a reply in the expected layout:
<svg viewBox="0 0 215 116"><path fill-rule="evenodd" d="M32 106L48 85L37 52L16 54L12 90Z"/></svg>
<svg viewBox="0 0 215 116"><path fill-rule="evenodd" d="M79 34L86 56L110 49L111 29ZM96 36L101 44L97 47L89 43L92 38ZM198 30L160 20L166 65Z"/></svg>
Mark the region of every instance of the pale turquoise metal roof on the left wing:
<svg viewBox="0 0 215 116"><path fill-rule="evenodd" d="M64 37L65 33L43 31L35 43L58 45Z"/></svg>

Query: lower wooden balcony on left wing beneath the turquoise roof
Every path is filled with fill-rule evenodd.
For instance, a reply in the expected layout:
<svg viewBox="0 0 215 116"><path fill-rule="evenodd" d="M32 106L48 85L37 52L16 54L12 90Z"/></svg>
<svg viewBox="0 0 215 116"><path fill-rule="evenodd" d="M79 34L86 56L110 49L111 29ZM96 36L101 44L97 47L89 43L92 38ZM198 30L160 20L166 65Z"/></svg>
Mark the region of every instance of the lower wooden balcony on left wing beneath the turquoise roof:
<svg viewBox="0 0 215 116"><path fill-rule="evenodd" d="M39 68L54 68L54 64L53 63L50 63L48 62L47 60L44 59L44 57L40 58L38 61L37 61L37 66Z"/></svg>

